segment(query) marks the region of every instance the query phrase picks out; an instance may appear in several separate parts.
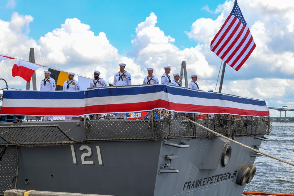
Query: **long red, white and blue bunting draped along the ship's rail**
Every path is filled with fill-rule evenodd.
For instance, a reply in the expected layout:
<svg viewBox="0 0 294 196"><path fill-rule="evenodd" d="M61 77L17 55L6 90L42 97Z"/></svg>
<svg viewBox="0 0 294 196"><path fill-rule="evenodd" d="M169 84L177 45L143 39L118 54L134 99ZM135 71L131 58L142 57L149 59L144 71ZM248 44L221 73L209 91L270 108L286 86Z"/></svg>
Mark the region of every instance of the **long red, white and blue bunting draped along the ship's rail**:
<svg viewBox="0 0 294 196"><path fill-rule="evenodd" d="M4 91L1 115L82 116L155 109L175 112L269 116L264 100L157 84L86 91Z"/></svg>

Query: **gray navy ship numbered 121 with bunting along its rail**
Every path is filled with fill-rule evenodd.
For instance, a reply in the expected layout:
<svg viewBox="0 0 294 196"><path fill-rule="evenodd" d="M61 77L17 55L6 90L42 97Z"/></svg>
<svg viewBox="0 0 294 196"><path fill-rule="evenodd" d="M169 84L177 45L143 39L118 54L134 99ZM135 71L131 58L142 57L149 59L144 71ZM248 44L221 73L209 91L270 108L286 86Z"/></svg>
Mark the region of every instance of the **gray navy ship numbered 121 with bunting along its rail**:
<svg viewBox="0 0 294 196"><path fill-rule="evenodd" d="M242 195L260 154L229 139L258 150L272 130L264 100L164 84L4 90L0 115L1 195Z"/></svg>

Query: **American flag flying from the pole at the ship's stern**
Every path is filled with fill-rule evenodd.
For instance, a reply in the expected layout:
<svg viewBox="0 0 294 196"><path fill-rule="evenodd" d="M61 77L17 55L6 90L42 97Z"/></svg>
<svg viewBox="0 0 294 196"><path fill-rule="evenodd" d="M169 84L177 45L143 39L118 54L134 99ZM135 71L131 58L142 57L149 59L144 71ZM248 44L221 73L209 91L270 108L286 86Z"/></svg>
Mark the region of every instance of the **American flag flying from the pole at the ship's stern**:
<svg viewBox="0 0 294 196"><path fill-rule="evenodd" d="M230 15L211 41L210 49L238 71L255 47L253 37L236 0Z"/></svg>

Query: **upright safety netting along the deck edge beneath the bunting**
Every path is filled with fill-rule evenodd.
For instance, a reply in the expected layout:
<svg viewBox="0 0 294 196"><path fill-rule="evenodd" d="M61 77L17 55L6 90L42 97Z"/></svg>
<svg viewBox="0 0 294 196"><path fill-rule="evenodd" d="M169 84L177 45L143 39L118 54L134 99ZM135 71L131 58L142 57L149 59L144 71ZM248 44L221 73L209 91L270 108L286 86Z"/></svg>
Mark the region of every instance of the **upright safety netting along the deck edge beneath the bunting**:
<svg viewBox="0 0 294 196"><path fill-rule="evenodd" d="M122 117L123 118L118 118ZM272 131L269 117L228 114L176 113L157 109L141 113L90 115L84 120L86 140L132 140L155 138L209 138L210 131L194 125L187 117L222 135L267 135Z"/></svg>

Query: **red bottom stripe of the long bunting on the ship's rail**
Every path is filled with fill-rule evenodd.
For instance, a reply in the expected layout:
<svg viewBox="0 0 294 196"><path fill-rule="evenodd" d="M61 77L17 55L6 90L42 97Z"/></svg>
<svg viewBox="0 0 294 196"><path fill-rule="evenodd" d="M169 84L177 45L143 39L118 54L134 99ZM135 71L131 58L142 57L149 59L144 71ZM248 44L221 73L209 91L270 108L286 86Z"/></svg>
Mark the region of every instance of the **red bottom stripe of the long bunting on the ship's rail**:
<svg viewBox="0 0 294 196"><path fill-rule="evenodd" d="M108 104L93 105L81 108L27 108L27 107L2 107L2 115L37 115L37 116L81 116L94 113L124 113L124 112L140 112L145 110L153 110L156 108L164 108L166 110L174 110L178 112L197 112L197 113L218 113L233 114L244 116L269 116L269 110L243 110L229 107L203 106L193 104L171 103L165 100L156 100L141 103L124 103L124 104ZM9 113L8 113L9 112Z"/></svg>

